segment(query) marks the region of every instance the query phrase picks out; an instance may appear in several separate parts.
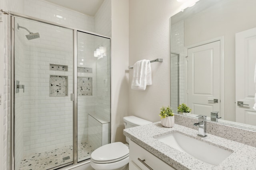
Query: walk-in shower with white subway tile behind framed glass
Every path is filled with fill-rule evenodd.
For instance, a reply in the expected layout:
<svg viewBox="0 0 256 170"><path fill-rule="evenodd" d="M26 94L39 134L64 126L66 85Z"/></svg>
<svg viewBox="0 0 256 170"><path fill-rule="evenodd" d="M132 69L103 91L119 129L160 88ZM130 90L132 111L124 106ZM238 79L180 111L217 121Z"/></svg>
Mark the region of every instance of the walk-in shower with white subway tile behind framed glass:
<svg viewBox="0 0 256 170"><path fill-rule="evenodd" d="M17 14L10 20L12 170L89 160L110 143L110 38Z"/></svg>

